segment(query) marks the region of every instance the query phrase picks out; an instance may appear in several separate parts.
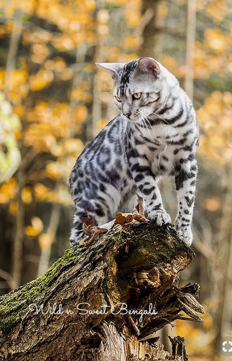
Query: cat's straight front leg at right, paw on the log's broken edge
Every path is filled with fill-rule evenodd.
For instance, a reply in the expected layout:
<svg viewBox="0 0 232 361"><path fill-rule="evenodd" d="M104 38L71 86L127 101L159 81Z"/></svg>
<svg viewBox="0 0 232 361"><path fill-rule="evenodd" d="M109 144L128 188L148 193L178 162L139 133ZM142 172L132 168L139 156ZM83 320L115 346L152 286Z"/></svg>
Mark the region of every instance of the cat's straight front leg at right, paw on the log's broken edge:
<svg viewBox="0 0 232 361"><path fill-rule="evenodd" d="M179 211L176 218L176 231L179 237L190 245L192 242L191 221L195 200L197 176L196 161L189 162L178 175L175 176L176 190L179 200Z"/></svg>

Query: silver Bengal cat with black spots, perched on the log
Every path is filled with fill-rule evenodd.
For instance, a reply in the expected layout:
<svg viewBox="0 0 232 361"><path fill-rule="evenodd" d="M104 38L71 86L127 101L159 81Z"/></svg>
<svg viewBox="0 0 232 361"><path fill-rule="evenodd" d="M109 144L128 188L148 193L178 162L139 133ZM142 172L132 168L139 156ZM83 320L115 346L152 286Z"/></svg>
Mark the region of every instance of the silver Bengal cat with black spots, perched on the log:
<svg viewBox="0 0 232 361"><path fill-rule="evenodd" d="M133 212L137 194L150 220L170 222L158 188L164 175L175 177L176 230L190 244L199 130L189 97L154 59L99 65L112 73L120 114L86 146L71 171L71 244L83 237L81 219L93 217L101 225L117 211Z"/></svg>

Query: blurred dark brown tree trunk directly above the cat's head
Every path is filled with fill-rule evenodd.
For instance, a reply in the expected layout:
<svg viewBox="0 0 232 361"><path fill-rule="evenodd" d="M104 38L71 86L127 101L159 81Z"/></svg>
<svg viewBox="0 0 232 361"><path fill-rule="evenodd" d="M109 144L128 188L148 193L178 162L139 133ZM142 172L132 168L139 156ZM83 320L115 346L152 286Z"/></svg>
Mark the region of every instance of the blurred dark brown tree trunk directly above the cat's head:
<svg viewBox="0 0 232 361"><path fill-rule="evenodd" d="M139 47L140 56L157 57L156 47L158 44L157 8L160 0L143 0L142 14L151 14L149 21L142 31L142 43Z"/></svg>

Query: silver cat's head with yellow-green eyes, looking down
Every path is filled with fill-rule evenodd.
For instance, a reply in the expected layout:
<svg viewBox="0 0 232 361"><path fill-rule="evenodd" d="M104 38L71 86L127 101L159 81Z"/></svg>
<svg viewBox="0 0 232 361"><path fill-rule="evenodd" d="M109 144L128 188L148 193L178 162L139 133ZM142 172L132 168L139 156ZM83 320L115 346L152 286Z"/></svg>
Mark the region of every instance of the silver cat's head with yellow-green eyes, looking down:
<svg viewBox="0 0 232 361"><path fill-rule="evenodd" d="M178 92L179 83L158 61L142 57L127 63L96 63L114 80L114 101L125 120L146 119Z"/></svg>

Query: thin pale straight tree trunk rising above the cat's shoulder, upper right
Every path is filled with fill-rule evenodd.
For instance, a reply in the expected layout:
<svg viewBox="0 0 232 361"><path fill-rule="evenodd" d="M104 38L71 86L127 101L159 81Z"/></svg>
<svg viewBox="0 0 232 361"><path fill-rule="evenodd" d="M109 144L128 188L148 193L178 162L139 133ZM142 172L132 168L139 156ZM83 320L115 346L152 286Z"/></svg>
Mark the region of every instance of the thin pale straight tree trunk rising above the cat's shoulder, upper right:
<svg viewBox="0 0 232 361"><path fill-rule="evenodd" d="M196 0L187 1L187 39L185 91L193 100L194 90L194 46L196 33Z"/></svg>

